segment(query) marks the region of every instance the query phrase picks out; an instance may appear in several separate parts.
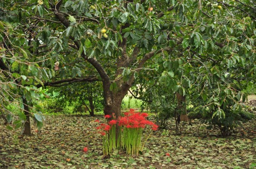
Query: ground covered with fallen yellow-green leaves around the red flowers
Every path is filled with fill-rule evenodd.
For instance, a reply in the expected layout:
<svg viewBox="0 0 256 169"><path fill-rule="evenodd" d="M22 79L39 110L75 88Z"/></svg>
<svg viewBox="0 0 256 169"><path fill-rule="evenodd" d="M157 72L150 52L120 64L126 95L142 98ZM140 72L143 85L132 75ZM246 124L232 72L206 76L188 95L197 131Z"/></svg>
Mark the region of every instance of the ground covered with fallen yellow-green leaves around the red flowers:
<svg viewBox="0 0 256 169"><path fill-rule="evenodd" d="M170 120L170 130L154 132L143 155L126 156L115 151L103 159L95 119L104 121L101 116L47 116L41 131L32 127L31 137L6 131L1 125L0 168L243 169L256 163L255 119L227 138L218 137L217 130L207 130L198 120L193 126L184 125L182 135L175 136ZM83 152L84 147L88 147L87 152Z"/></svg>

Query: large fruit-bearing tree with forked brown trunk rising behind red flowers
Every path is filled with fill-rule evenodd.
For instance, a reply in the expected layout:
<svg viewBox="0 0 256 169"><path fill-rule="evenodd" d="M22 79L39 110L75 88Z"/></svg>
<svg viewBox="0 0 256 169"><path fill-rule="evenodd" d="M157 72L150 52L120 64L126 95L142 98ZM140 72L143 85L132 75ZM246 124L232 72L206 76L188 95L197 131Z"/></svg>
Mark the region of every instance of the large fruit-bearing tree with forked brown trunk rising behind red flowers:
<svg viewBox="0 0 256 169"><path fill-rule="evenodd" d="M189 74L183 64L186 68L201 64L199 73L204 74L203 80L207 82L221 77L210 68L213 65L223 68L221 74L238 64L253 72L255 22L252 21L256 17L253 3L250 0L212 0L210 4L201 0L44 0L40 5L29 0L1 3L0 10L3 21L22 32L3 39L15 41L15 46L19 46L17 51L39 65L36 69L30 66L39 79L36 82L58 81L54 76L95 75L103 85L104 113L114 112L118 118L122 99L154 56L169 68L168 73L180 79L178 82L171 77L172 82L167 85L176 87L183 96L185 89L181 84L191 82L188 75L183 75L184 71ZM22 38L18 41L18 37ZM15 46L3 45L12 50ZM61 66L55 73L57 61ZM8 65L15 67L14 63ZM151 68L158 69L159 65L154 65ZM204 91L205 87L201 89Z"/></svg>

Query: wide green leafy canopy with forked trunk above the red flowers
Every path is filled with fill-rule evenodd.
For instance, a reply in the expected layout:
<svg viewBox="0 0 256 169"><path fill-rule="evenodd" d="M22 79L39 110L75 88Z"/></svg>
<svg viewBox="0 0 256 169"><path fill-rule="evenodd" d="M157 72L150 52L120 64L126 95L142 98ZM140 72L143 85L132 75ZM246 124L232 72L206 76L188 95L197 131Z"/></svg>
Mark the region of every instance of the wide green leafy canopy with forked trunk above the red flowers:
<svg viewBox="0 0 256 169"><path fill-rule="evenodd" d="M39 87L101 81L104 113L119 117L130 87L152 75L221 117L255 82L251 0L5 0L0 11L0 87L23 109Z"/></svg>

